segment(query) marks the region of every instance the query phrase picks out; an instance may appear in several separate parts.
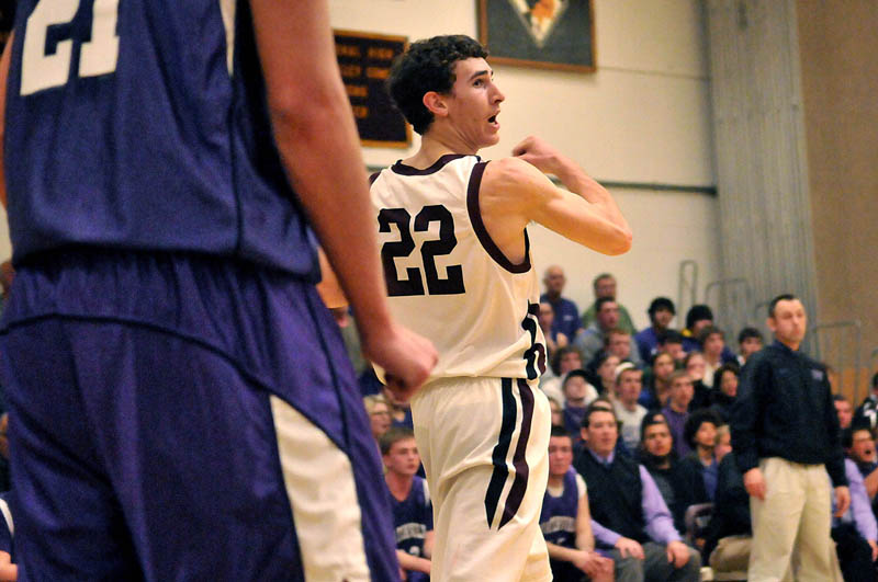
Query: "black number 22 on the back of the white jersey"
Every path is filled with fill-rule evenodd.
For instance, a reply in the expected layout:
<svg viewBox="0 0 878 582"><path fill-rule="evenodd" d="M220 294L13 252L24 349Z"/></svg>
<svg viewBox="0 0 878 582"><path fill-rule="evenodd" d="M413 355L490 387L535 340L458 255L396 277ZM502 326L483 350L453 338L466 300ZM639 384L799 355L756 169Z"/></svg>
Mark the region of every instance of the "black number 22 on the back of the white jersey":
<svg viewBox="0 0 878 582"><path fill-rule="evenodd" d="M415 232L426 232L430 222L439 222L439 239L425 240L420 244L421 269L409 266L405 270L405 278L399 278L394 259L404 258L415 250L415 240L412 238L413 227ZM449 265L446 267L446 278L439 278L436 269L436 258L451 254L458 246L454 236L454 218L444 206L434 204L425 206L415 216L414 225L412 215L405 208L382 208L378 214L379 232L391 232L391 225L399 229L399 240L385 242L381 248L381 263L384 266L384 278L387 283L387 294L391 297L425 295L424 278L427 279L429 295L459 295L465 293L463 285L463 267Z"/></svg>

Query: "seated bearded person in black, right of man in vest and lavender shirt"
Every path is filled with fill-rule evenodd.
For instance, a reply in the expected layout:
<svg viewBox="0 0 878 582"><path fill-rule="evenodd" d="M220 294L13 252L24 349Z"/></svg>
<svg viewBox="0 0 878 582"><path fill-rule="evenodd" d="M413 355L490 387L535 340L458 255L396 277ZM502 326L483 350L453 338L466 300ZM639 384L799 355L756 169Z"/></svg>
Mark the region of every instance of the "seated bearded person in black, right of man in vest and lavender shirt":
<svg viewBox="0 0 878 582"><path fill-rule="evenodd" d="M705 484L691 464L684 464L674 452L674 437L661 412L650 413L641 424L640 461L650 471L655 486L674 517L677 532L686 529L686 510L708 500Z"/></svg>

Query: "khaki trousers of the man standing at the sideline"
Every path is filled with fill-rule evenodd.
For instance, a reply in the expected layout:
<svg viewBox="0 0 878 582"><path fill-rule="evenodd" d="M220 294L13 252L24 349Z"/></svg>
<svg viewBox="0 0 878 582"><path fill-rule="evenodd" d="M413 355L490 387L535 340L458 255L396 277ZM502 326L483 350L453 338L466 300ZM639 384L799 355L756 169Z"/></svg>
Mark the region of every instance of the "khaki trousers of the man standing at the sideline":
<svg viewBox="0 0 878 582"><path fill-rule="evenodd" d="M841 580L830 537L832 491L825 467L770 457L759 461L759 469L766 493L765 501L750 498L748 580L779 582L790 569L800 581Z"/></svg>

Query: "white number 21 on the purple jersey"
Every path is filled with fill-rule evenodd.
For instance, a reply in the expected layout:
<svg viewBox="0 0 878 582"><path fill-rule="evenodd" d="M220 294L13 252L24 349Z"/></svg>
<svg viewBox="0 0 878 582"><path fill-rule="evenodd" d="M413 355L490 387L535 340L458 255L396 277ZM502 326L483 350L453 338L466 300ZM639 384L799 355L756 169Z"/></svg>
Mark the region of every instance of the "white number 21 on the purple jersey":
<svg viewBox="0 0 878 582"><path fill-rule="evenodd" d="M49 26L72 22L80 10L80 3L87 2L41 0L27 16L21 62L22 96L67 83L70 77L74 39L58 41L55 44L55 52L47 54L48 30ZM119 36L116 36L119 0L92 0L91 4L91 39L82 42L79 49L80 78L98 77L115 71L119 58Z"/></svg>

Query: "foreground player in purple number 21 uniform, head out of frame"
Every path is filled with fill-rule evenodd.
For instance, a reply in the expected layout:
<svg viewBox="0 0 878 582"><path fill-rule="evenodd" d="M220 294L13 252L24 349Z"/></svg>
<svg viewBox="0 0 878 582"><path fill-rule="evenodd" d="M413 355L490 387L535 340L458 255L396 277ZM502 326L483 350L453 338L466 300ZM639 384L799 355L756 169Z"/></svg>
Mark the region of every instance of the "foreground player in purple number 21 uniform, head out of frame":
<svg viewBox="0 0 878 582"><path fill-rule="evenodd" d="M26 0L0 75L20 579L395 580L314 233L392 388L436 355L385 306L326 2Z"/></svg>

